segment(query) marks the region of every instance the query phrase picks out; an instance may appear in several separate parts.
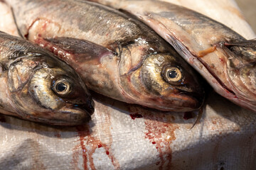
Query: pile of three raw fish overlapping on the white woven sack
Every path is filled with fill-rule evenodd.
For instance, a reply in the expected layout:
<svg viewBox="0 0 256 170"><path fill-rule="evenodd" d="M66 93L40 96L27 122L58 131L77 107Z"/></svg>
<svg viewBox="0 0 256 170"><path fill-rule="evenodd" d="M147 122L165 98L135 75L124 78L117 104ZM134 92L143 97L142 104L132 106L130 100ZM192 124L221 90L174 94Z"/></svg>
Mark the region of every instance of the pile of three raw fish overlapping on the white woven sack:
<svg viewBox="0 0 256 170"><path fill-rule="evenodd" d="M163 1L97 2L125 13L90 1L4 1L31 42L0 34L1 113L84 123L94 105L83 83L126 103L198 111L205 92L192 67L220 95L256 111L255 40Z"/></svg>

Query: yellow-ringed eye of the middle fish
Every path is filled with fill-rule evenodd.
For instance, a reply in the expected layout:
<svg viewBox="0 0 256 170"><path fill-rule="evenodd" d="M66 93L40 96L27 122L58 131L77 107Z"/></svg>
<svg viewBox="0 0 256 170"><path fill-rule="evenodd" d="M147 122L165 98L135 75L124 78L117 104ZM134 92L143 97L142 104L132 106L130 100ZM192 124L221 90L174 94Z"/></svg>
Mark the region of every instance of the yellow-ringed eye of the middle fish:
<svg viewBox="0 0 256 170"><path fill-rule="evenodd" d="M165 81L169 83L180 81L182 78L181 69L170 66L164 67L162 76L164 77Z"/></svg>

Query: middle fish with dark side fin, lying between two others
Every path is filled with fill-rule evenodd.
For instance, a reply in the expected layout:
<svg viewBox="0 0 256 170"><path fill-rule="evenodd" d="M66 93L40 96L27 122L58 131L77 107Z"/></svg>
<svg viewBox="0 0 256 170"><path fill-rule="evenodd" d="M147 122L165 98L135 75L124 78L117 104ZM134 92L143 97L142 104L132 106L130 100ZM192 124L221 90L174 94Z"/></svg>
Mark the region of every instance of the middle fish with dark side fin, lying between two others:
<svg viewBox="0 0 256 170"><path fill-rule="evenodd" d="M6 2L21 35L65 60L93 91L163 111L201 107L196 73L143 23L87 1Z"/></svg>

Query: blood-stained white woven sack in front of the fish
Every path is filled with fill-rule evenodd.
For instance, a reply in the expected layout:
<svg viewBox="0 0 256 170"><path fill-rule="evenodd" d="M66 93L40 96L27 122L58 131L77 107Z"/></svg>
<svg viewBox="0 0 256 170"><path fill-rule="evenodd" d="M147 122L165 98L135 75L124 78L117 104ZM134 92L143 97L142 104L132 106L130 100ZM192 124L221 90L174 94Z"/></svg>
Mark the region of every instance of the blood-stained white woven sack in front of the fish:
<svg viewBox="0 0 256 170"><path fill-rule="evenodd" d="M212 93L200 123L96 96L89 125L53 128L1 115L9 169L255 169L256 114ZM194 118L191 118L194 117ZM7 168L7 169L8 169Z"/></svg>

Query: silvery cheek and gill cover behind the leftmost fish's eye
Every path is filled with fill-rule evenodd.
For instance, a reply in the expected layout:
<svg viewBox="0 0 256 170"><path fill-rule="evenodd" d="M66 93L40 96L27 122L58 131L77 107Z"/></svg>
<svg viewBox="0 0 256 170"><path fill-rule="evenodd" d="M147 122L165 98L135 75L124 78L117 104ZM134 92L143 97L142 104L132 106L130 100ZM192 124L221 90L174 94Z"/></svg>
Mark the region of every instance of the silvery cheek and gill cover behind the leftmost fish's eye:
<svg viewBox="0 0 256 170"><path fill-rule="evenodd" d="M36 67L37 65L38 63L23 59L11 64L9 69L11 105L23 118L50 118L51 110L61 106L60 101L53 100L53 92L50 84L47 84L49 71L46 70L49 69Z"/></svg>

